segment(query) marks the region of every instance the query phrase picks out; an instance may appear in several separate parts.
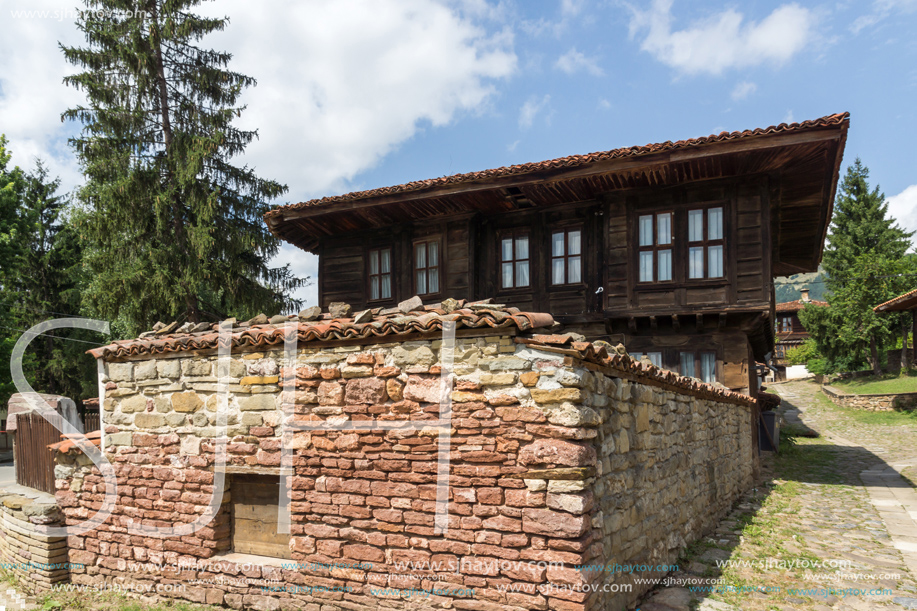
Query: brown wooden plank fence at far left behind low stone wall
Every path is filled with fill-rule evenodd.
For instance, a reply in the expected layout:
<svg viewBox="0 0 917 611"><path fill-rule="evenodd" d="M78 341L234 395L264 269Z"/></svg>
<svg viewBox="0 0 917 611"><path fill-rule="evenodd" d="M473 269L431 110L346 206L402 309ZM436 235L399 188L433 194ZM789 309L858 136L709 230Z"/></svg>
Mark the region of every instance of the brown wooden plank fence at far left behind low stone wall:
<svg viewBox="0 0 917 611"><path fill-rule="evenodd" d="M51 415L52 422L35 413L16 414L16 442L13 460L16 465L16 483L54 494L54 454L48 449L61 440L60 414ZM83 416L83 430L87 433L99 429L99 413Z"/></svg>

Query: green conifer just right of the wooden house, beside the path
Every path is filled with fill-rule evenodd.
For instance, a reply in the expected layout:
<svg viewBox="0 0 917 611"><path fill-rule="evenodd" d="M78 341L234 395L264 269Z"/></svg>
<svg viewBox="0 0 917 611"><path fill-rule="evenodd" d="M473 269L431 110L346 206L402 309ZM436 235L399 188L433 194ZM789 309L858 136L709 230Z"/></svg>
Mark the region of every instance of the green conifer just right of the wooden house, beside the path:
<svg viewBox="0 0 917 611"><path fill-rule="evenodd" d="M823 259L828 307L799 313L831 371L869 363L879 373L882 354L900 333L901 315L872 308L913 288L917 272L913 258L905 257L913 233L888 216L885 196L878 186L870 190L868 178L860 159L847 168Z"/></svg>

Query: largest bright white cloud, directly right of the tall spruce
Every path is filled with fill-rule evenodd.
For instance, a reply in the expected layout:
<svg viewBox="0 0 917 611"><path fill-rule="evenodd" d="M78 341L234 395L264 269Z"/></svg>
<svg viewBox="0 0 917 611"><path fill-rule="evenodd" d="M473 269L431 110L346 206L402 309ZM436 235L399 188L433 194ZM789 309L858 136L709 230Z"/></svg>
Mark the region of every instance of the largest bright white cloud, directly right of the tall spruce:
<svg viewBox="0 0 917 611"><path fill-rule="evenodd" d="M346 190L424 124L480 112L494 81L516 69L510 32L488 34L434 0L282 11L224 0L206 10L233 16L208 44L232 51L233 69L258 79L239 121L259 129L245 161L289 184L293 199Z"/></svg>

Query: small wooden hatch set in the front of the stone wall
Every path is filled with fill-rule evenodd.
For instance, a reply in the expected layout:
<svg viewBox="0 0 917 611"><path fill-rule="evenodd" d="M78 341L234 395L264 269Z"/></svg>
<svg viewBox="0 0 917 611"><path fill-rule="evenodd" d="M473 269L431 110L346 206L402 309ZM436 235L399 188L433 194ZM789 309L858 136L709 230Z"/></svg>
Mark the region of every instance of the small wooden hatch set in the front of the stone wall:
<svg viewBox="0 0 917 611"><path fill-rule="evenodd" d="M234 552L292 558L289 533L277 532L280 476L234 474L231 499Z"/></svg>

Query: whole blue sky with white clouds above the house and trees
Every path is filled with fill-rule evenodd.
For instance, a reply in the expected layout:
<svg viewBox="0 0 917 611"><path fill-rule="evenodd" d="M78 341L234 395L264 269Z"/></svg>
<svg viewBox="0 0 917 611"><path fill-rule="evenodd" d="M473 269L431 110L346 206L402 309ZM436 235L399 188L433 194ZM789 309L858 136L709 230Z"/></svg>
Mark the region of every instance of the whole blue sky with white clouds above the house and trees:
<svg viewBox="0 0 917 611"><path fill-rule="evenodd" d="M71 4L0 0L0 132L80 182L60 112ZM70 9L71 13L66 11ZM19 11L50 11L27 15ZM58 15L53 12L57 11ZM207 2L206 42L259 84L244 161L277 204L526 161L851 113L857 156L917 229L917 0ZM59 17L59 18L57 18ZM285 247L301 274L315 260ZM314 286L303 296L312 302Z"/></svg>

